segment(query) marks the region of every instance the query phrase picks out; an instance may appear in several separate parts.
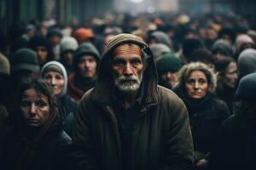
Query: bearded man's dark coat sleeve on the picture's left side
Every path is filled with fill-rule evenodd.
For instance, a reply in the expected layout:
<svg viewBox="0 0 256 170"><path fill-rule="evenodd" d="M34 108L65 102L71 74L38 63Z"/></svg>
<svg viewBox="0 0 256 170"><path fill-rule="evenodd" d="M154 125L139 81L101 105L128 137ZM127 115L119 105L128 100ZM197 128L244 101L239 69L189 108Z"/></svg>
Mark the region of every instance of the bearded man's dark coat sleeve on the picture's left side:
<svg viewBox="0 0 256 170"><path fill-rule="evenodd" d="M85 97L86 98L86 97ZM73 144L69 146L69 160L72 169L96 170L96 159L94 156L94 142L90 131L90 116L88 99L82 99L79 103L74 128Z"/></svg>

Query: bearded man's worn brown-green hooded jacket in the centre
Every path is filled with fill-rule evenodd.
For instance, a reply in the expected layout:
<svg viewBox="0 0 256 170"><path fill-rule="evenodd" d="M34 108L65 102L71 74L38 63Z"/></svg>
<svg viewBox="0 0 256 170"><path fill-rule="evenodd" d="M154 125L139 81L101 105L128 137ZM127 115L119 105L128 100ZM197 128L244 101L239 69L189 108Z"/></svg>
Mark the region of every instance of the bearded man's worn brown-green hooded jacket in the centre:
<svg viewBox="0 0 256 170"><path fill-rule="evenodd" d="M131 128L131 149L124 158L109 59L114 48L129 42L143 48L147 68L144 97ZM70 160L77 169L190 169L193 144L186 107L172 91L157 86L153 55L141 38L119 34L108 42L96 88L79 103L73 141Z"/></svg>

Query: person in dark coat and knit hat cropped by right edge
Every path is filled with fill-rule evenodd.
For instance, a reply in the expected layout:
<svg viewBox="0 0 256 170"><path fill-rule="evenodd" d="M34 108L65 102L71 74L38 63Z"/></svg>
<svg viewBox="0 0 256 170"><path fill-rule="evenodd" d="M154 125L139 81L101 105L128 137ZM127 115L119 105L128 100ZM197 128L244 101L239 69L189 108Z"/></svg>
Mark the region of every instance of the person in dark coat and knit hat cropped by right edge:
<svg viewBox="0 0 256 170"><path fill-rule="evenodd" d="M241 78L234 115L222 125L218 150L212 153L212 170L256 169L256 73Z"/></svg>

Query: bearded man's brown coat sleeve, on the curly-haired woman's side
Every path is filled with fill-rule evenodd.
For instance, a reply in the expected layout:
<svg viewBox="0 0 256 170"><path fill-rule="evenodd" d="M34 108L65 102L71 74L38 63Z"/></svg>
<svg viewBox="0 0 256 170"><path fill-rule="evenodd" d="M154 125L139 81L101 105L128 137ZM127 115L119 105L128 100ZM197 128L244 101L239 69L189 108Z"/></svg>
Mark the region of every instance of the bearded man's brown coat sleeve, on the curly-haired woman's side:
<svg viewBox="0 0 256 170"><path fill-rule="evenodd" d="M160 170L185 170L193 166L193 140L186 106L175 95L169 101L164 161ZM173 101L174 100L174 101Z"/></svg>

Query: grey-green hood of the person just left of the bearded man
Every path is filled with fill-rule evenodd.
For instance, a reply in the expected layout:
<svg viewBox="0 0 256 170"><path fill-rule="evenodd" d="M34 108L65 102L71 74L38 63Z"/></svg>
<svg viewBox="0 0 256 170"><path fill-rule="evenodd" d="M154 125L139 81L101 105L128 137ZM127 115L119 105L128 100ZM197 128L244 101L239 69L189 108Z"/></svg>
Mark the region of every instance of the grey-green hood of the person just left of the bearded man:
<svg viewBox="0 0 256 170"><path fill-rule="evenodd" d="M90 43L90 42L84 42L79 45L79 48L74 53L73 56L73 68L74 71L78 71L78 63L79 59L84 55L84 54L90 54L96 59L97 67L100 61L100 54L96 47Z"/></svg>

